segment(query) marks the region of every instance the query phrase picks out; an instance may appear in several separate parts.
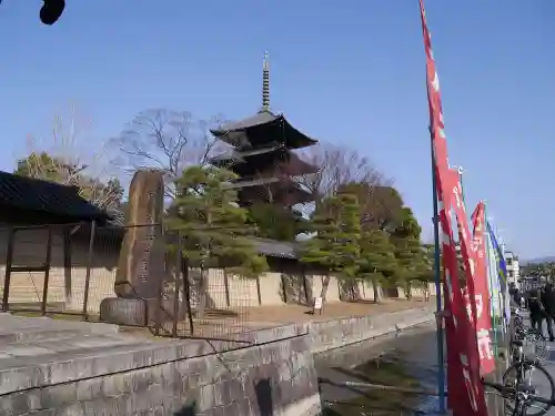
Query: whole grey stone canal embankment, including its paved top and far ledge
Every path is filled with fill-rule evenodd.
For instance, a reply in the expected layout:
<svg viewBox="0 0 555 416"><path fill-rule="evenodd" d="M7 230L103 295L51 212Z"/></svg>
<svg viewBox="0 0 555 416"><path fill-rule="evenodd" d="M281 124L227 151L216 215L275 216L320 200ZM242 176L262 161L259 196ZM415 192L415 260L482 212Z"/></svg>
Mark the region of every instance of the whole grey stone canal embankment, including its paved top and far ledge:
<svg viewBox="0 0 555 416"><path fill-rule="evenodd" d="M229 343L0 314L0 415L320 415L312 354L432 319L412 308L282 325L216 353Z"/></svg>

